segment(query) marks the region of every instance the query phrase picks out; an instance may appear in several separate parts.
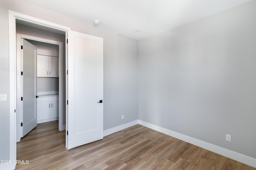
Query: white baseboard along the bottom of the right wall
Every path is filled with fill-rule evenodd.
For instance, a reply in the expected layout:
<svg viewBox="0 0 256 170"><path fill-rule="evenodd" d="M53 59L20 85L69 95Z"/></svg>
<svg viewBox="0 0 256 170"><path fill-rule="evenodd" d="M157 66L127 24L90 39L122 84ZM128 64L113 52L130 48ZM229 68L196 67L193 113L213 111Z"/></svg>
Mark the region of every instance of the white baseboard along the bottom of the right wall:
<svg viewBox="0 0 256 170"><path fill-rule="evenodd" d="M249 157L249 156L246 156L246 155L243 155L243 154L240 154L238 152L234 152L232 150L228 150L228 149L225 149L225 148L222 148L222 147L218 147L216 145L213 145L213 144L210 144L210 143L207 143L207 142L204 142L204 141L200 141L198 139L183 135L181 133L171 131L169 129L165 129L163 127L153 125L151 123L147 123L145 121L138 120L138 124L140 124L142 126L145 126L145 127L148 127L150 129L154 129L158 132L161 132L161 133L164 133L166 135L175 137L175 138L180 139L182 141L185 141L187 143L191 143L191 144L196 145L198 147L210 150L210 151L215 152L217 154L220 154L222 156L226 156L230 159L236 160L238 162L242 162L244 164L247 164L249 166L252 166L252 167L256 168L256 159L255 158L252 158L252 157Z"/></svg>

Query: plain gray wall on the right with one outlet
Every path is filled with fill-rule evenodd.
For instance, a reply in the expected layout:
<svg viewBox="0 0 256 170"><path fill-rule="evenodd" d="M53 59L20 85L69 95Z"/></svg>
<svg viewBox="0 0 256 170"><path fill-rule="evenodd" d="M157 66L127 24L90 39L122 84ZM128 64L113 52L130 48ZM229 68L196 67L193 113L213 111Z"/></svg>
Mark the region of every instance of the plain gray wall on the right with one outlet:
<svg viewBox="0 0 256 170"><path fill-rule="evenodd" d="M142 39L138 55L140 120L256 158L256 1Z"/></svg>

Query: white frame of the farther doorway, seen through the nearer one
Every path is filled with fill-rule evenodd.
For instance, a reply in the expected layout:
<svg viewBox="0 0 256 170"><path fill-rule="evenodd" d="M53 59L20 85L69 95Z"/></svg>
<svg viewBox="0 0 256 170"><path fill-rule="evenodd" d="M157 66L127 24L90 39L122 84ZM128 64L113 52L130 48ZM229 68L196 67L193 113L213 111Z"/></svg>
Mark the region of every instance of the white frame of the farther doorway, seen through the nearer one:
<svg viewBox="0 0 256 170"><path fill-rule="evenodd" d="M16 43L17 43L17 57L16 57L16 61L17 61L17 65L16 65L16 72L17 72L17 98L19 99L21 97L21 91L22 89L21 87L21 74L20 73L20 66L21 66L21 49L20 49L20 39L24 38L24 39L30 39L30 40L34 40L34 41L40 41L40 42L44 42L44 43L49 43L49 44L55 44L59 46L59 113L63 112L63 93L62 93L62 89L63 89L63 70L62 70L62 66L63 66L63 43L60 41L54 41L54 40L50 40L50 39L44 39L44 38L40 38L40 37L35 37L32 35L26 35L26 34L21 34L21 33L16 33ZM17 126L20 126L21 123L21 118L22 118L22 109L21 109L21 101L17 100L17 104L16 104L16 122L17 122ZM62 119L62 115L59 114L59 119ZM63 131L65 130L65 127L63 127L62 125L60 126L59 123L59 130ZM21 134L22 134L22 128L17 128L16 131L16 135L17 135L17 142L20 141L21 138Z"/></svg>

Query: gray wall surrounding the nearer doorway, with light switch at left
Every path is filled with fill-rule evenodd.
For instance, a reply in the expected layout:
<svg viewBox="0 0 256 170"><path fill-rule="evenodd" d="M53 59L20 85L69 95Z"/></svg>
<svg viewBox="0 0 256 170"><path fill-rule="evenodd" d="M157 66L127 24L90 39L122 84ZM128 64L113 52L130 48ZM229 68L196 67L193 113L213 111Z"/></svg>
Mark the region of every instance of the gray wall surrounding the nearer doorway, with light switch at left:
<svg viewBox="0 0 256 170"><path fill-rule="evenodd" d="M0 94L7 94L7 101L0 102L0 128L4 129L0 131L0 160L9 159L8 10L64 25L73 31L103 37L104 130L138 119L138 41L22 0L1 0L0 76L3 83L0 83ZM122 114L125 115L123 120Z"/></svg>

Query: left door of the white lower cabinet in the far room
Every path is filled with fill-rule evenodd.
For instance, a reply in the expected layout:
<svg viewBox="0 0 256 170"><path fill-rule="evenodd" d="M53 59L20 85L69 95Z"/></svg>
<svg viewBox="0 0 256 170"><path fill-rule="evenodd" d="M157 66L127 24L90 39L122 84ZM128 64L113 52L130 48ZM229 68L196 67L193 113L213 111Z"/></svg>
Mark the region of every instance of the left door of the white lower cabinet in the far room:
<svg viewBox="0 0 256 170"><path fill-rule="evenodd" d="M50 102L38 102L37 104L37 120L44 120L51 118Z"/></svg>

